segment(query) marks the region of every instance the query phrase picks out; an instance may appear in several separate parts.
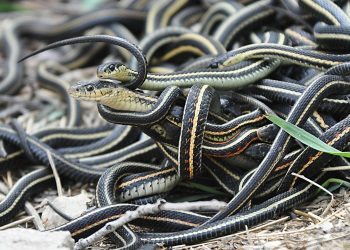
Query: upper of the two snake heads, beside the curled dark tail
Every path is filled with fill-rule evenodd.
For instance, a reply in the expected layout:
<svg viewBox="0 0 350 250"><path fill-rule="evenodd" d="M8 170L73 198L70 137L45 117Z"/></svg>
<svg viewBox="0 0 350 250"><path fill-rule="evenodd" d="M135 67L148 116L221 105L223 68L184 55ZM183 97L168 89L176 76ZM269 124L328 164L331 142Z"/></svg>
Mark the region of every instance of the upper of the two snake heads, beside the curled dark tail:
<svg viewBox="0 0 350 250"><path fill-rule="evenodd" d="M137 72L120 62L109 62L97 67L97 77L100 79L131 81L137 76Z"/></svg>

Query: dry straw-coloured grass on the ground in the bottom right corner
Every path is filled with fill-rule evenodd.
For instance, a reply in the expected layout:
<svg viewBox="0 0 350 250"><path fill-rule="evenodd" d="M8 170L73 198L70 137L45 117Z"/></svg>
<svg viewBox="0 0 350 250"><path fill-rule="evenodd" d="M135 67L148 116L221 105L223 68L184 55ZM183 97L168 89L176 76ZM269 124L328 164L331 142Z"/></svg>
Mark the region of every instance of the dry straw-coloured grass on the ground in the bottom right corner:
<svg viewBox="0 0 350 250"><path fill-rule="evenodd" d="M300 207L304 216L285 216L233 235L172 249L350 249L349 196L345 189L334 194L334 203L325 216L321 215L329 204L328 195Z"/></svg>

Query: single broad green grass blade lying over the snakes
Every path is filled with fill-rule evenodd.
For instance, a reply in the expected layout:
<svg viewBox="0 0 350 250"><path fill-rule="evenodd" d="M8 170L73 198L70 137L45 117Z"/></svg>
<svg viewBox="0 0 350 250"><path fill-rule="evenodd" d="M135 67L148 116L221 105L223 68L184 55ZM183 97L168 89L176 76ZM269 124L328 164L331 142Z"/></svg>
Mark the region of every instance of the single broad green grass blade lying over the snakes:
<svg viewBox="0 0 350 250"><path fill-rule="evenodd" d="M335 149L332 146L324 143L323 141L313 136L309 132L306 132L305 130L299 128L298 126L295 126L294 124L287 122L279 118L278 116L267 115L266 118L272 121L273 123L275 123L280 128L282 128L284 131L286 131L289 135L291 135L295 139L299 140L300 142L304 143L305 145L313 149L316 149L318 151L321 151L327 154L350 158L350 152L339 151L338 149Z"/></svg>

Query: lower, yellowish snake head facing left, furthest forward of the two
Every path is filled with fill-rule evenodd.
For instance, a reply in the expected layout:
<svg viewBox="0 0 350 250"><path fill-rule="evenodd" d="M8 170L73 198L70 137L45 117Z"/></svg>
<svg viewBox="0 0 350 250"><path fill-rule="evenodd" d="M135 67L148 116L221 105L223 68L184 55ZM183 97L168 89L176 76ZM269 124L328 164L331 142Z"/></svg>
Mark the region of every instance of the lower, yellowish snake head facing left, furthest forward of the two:
<svg viewBox="0 0 350 250"><path fill-rule="evenodd" d="M75 99L100 102L112 95L117 85L108 81L86 81L73 84L68 93Z"/></svg>

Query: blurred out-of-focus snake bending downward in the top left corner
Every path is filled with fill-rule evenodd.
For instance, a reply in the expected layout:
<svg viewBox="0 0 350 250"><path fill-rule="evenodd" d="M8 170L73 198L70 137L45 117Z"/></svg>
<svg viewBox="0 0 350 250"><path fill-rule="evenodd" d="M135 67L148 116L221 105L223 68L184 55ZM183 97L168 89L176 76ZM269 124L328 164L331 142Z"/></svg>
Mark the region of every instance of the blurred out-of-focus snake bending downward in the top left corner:
<svg viewBox="0 0 350 250"><path fill-rule="evenodd" d="M21 79L24 73L22 64L16 61L22 56L19 37L26 36L36 39L54 40L58 38L67 38L77 34L81 34L87 29L108 24L115 21L123 24L137 23L145 19L145 13L135 10L119 10L119 9L101 9L76 16L57 23L44 18L35 16L25 16L14 20L7 20L2 30L3 52L8 57L6 60L6 75L0 82L0 93L12 94L16 92L22 85ZM134 28L138 25L132 25Z"/></svg>

